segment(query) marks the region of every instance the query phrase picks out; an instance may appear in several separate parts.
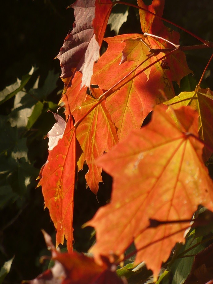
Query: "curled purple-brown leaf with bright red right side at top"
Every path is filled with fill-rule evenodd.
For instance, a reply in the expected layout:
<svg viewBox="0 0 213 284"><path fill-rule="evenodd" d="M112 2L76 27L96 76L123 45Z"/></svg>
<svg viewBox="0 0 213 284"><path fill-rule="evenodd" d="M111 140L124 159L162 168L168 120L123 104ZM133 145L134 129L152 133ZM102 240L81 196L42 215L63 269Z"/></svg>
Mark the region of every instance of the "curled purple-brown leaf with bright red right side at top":
<svg viewBox="0 0 213 284"><path fill-rule="evenodd" d="M77 0L69 6L74 8L73 30L66 36L64 44L56 56L60 60L61 78L65 83L65 91L71 85L70 81L73 79L75 71L82 72L81 87L83 85L90 86L93 64L99 58L99 44L102 43L112 8L112 4L105 5L105 3L109 4L111 1L106 0L104 4L97 2L95 6L95 0ZM95 9L102 14L98 14L98 11L95 12Z"/></svg>

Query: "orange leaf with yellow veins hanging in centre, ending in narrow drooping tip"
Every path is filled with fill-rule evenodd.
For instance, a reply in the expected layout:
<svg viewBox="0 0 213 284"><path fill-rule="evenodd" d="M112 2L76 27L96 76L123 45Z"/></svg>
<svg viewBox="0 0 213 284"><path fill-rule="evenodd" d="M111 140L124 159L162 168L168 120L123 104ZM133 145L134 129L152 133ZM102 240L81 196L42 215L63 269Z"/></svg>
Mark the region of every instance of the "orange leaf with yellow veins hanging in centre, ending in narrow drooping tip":
<svg viewBox="0 0 213 284"><path fill-rule="evenodd" d="M97 102L98 97L102 95L101 89L92 89L92 95L87 95L81 108L73 112L75 121L78 121L86 112L90 110ZM76 129L76 138L82 148L82 156L78 161L78 169L82 169L83 162L89 167L86 173L86 183L93 193L98 192L98 183L102 181L102 168L94 160L99 158L103 152L108 152L117 142L118 136L111 116L105 107L106 101L101 102Z"/></svg>

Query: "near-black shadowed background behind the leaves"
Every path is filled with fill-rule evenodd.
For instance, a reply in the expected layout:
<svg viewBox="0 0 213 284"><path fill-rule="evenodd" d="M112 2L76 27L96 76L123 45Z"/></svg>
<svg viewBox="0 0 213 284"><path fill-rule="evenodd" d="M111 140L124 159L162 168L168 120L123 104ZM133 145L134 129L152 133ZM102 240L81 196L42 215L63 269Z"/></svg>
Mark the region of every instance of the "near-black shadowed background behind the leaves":
<svg viewBox="0 0 213 284"><path fill-rule="evenodd" d="M29 161L25 160L23 164L30 172L28 174L30 182L26 186L26 190L20 192L22 172L19 173L19 169L20 165L23 165L23 158L16 159L18 170L15 168L10 175L6 176L2 168L5 167L5 163L12 167L9 160L14 148L0 156L0 187L6 189L5 186L7 186L7 189L12 190L10 198L7 193L3 194L0 190L0 267L15 255L5 283L20 283L23 279L32 279L46 269L47 264L41 265L39 263L39 258L42 255L49 254L41 229L45 229L53 240L55 238L54 226L48 210L44 210L41 188L35 188L35 179L47 159L48 141L44 140L44 136L54 124L54 118L50 113L47 113L47 110L57 111L57 103L63 88L62 81L58 79L61 72L59 61L53 60L53 58L58 54L74 21L73 10L66 10L70 4L72 3L68 0L11 0L1 4L0 90L14 83L17 77L21 79L22 75L27 74L32 66L38 69L27 83L26 92L29 91L30 94L38 76L40 76L39 94L41 94L42 87L46 86L45 80L48 75L50 80L47 84L51 85L49 92L41 97L43 103L41 115L33 127L29 129L17 128L17 133L5 136L2 129L15 131L15 128L11 128L9 122L6 122L14 107L14 97L0 105L1 140L6 139L6 143L9 143L11 137L16 136L17 139L13 145L15 147L19 143L18 140L25 139L23 141L26 142L25 147L27 147ZM212 14L213 2L211 0L189 0L187 2L166 0L163 16L200 37L213 41L211 34ZM127 23L123 24L119 33L140 32L139 27L137 13L135 9L130 8ZM188 34L176 28L175 30L181 34L181 44L198 44L198 41ZM114 31L110 31L108 26L107 36L113 35L115 35ZM211 53L212 50L187 52L187 62L194 71L194 76L189 75L182 80L181 90L190 91L195 87ZM210 69L212 69L212 64L208 70ZM50 71L52 75L49 73ZM212 79L212 72L208 71L202 87L212 88ZM175 88L177 92L180 91L177 86ZM99 206L106 203L110 198L111 190L111 178L103 173L104 185L100 185L98 203L94 194L86 189L83 177L86 170L85 166L83 172L79 174L74 201L74 237L76 240L74 247L78 251L86 251L93 241L93 239L89 240L91 228L81 229L81 225L94 215ZM7 197L9 199L5 201Z"/></svg>

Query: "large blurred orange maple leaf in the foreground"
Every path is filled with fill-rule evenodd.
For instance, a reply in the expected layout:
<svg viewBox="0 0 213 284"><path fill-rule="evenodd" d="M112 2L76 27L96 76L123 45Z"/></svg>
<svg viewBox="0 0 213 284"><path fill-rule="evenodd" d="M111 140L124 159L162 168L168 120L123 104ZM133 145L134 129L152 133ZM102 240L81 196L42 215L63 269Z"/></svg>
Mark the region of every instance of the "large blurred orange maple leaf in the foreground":
<svg viewBox="0 0 213 284"><path fill-rule="evenodd" d="M175 243L184 240L186 225L147 229L149 218L178 221L191 219L199 204L213 209L203 144L184 134L197 136L198 114L190 107L175 113L181 127L162 106L155 107L147 126L132 131L98 159L97 164L113 177L113 190L111 203L86 223L96 229L97 242L90 251L97 261L100 254L121 256L134 241L136 263L145 261L156 277Z"/></svg>

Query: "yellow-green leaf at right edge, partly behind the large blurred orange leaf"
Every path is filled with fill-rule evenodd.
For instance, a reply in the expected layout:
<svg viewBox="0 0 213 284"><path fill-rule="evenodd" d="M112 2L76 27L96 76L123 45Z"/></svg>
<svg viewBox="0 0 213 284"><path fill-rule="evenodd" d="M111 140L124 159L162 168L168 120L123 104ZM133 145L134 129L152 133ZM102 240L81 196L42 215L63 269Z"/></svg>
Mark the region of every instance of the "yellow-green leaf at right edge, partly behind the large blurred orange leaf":
<svg viewBox="0 0 213 284"><path fill-rule="evenodd" d="M213 125L211 118L213 117L213 92L207 89L201 89L199 86L192 92L181 92L178 96L165 102L176 109L180 106L190 106L199 112L199 136L211 148L213 148ZM168 108L171 112L171 108ZM171 114L172 115L172 114ZM177 118L173 116L175 122ZM203 157L207 161L211 156L211 151L204 146Z"/></svg>

